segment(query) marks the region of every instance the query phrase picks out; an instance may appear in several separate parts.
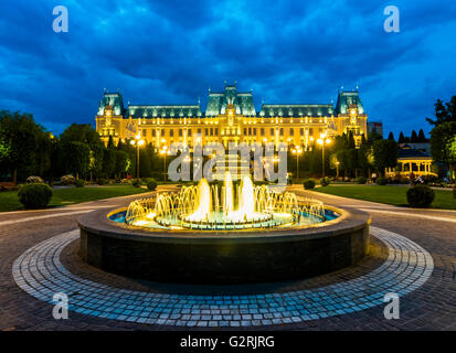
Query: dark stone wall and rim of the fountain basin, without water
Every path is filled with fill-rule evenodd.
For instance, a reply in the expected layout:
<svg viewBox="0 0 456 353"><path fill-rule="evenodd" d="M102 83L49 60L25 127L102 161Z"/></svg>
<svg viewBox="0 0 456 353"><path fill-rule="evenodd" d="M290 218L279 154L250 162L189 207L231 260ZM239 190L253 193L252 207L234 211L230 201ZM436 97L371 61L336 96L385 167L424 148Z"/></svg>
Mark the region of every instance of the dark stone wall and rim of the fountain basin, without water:
<svg viewBox="0 0 456 353"><path fill-rule="evenodd" d="M326 206L330 221L301 226L220 231L127 225L125 212L102 210L83 216L79 255L103 270L153 281L308 278L358 263L369 242L370 216L354 208Z"/></svg>

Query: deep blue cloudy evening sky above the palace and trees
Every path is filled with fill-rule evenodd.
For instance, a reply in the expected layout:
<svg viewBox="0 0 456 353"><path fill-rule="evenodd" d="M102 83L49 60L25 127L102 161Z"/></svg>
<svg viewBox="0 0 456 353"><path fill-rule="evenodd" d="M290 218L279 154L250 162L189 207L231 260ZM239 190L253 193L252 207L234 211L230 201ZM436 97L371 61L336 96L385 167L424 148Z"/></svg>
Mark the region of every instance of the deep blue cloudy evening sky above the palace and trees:
<svg viewBox="0 0 456 353"><path fill-rule="evenodd" d="M63 4L70 32L54 33ZM386 33L383 9L400 9ZM265 103L330 103L359 85L385 133L430 126L456 95L456 1L117 1L0 3L0 109L32 113L60 133L94 124L103 89L125 103L203 106L237 81Z"/></svg>

